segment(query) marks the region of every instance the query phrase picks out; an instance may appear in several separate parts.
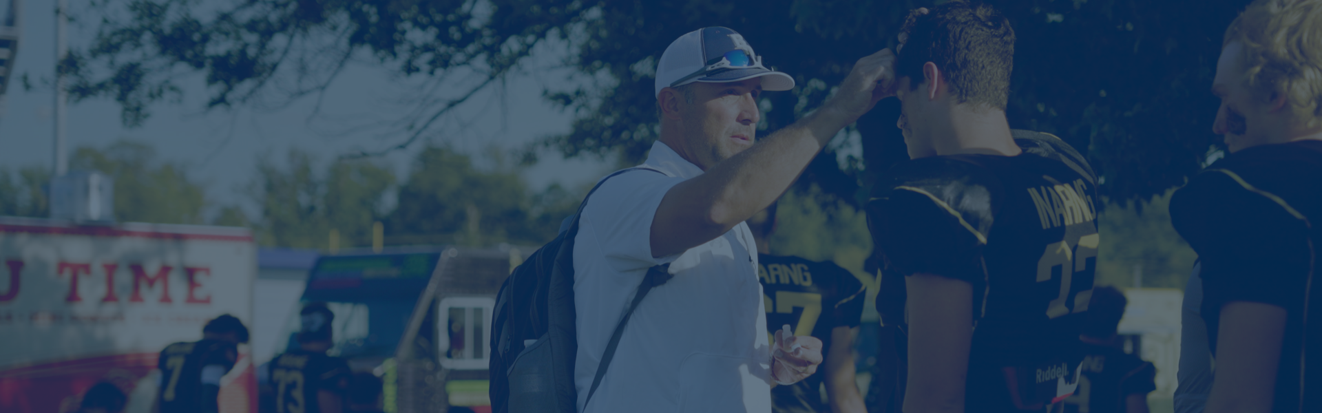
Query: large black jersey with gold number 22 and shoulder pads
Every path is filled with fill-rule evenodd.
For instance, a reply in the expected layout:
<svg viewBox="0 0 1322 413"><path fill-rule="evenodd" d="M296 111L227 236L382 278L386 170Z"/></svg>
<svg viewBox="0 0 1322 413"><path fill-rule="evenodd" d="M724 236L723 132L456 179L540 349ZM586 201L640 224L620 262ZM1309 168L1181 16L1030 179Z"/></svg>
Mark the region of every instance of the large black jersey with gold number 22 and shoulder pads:
<svg viewBox="0 0 1322 413"><path fill-rule="evenodd" d="M970 412L1060 402L1083 360L1079 326L1099 246L1096 173L1056 136L1013 134L1023 150L1017 156L896 164L867 204L884 261L883 322L903 324L899 277L936 274L973 286Z"/></svg>

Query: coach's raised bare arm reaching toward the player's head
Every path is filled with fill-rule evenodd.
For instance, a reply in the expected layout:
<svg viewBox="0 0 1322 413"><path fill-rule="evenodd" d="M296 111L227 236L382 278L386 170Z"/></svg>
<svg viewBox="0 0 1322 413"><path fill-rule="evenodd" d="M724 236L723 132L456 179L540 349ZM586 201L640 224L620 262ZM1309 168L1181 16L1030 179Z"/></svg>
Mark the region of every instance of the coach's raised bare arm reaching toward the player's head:
<svg viewBox="0 0 1322 413"><path fill-rule="evenodd" d="M672 187L652 220L652 257L682 253L715 240L771 205L837 132L882 98L894 95L894 64L895 54L890 49L858 60L836 95L821 109L747 151L706 168L701 176ZM662 93L677 94L673 89ZM715 98L738 94L746 111L752 114L742 122L758 122L760 86L722 86L717 93ZM677 97L670 97L670 102L662 99L664 116L678 116L674 99Z"/></svg>

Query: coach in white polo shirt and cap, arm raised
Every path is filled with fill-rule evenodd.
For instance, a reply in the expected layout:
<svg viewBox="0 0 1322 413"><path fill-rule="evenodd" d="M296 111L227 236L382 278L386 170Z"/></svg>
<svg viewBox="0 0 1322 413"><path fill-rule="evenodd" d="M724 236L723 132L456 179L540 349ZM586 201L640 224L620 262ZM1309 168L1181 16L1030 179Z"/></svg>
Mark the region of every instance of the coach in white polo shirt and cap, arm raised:
<svg viewBox="0 0 1322 413"><path fill-rule="evenodd" d="M756 142L763 90L793 79L761 65L739 33L690 32L656 68L661 138L644 169L590 197L574 245L580 412L769 412L772 381L821 363L821 340L772 357L758 252L744 220L767 208L839 130L888 95L894 54L865 57L822 107ZM878 87L878 82L886 87ZM660 173L658 173L660 172ZM646 270L673 278L635 310L600 388L602 353Z"/></svg>

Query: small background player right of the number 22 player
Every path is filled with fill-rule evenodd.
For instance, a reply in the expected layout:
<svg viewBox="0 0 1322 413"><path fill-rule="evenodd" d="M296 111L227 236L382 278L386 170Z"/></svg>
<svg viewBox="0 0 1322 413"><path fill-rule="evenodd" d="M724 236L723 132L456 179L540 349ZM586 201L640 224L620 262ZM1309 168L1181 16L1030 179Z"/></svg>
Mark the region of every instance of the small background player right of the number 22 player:
<svg viewBox="0 0 1322 413"><path fill-rule="evenodd" d="M1066 413L1147 413L1147 393L1157 389L1157 367L1120 347L1116 327L1129 303L1116 287L1092 290L1084 320L1083 375L1066 398Z"/></svg>

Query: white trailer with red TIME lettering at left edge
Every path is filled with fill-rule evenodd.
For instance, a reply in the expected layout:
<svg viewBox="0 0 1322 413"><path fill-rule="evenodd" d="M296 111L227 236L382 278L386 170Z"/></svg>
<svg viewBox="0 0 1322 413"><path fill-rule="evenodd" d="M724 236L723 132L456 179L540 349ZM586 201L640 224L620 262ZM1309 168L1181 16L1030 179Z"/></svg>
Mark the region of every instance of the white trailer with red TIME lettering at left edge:
<svg viewBox="0 0 1322 413"><path fill-rule="evenodd" d="M222 314L251 328L255 275L243 228L0 217L0 412L75 410L103 381L148 412L165 345ZM256 410L246 347L221 412Z"/></svg>

